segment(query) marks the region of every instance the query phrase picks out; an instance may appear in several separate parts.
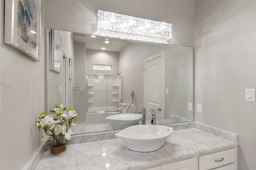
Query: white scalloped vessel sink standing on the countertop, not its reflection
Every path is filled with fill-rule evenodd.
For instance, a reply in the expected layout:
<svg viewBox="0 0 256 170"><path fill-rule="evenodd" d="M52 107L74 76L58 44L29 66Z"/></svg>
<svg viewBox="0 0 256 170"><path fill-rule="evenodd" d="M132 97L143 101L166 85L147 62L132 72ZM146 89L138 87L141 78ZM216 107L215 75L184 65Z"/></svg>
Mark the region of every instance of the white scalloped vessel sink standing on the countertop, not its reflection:
<svg viewBox="0 0 256 170"><path fill-rule="evenodd" d="M151 152L160 149L172 131L172 127L161 125L136 125L116 133L116 137L130 150Z"/></svg>

